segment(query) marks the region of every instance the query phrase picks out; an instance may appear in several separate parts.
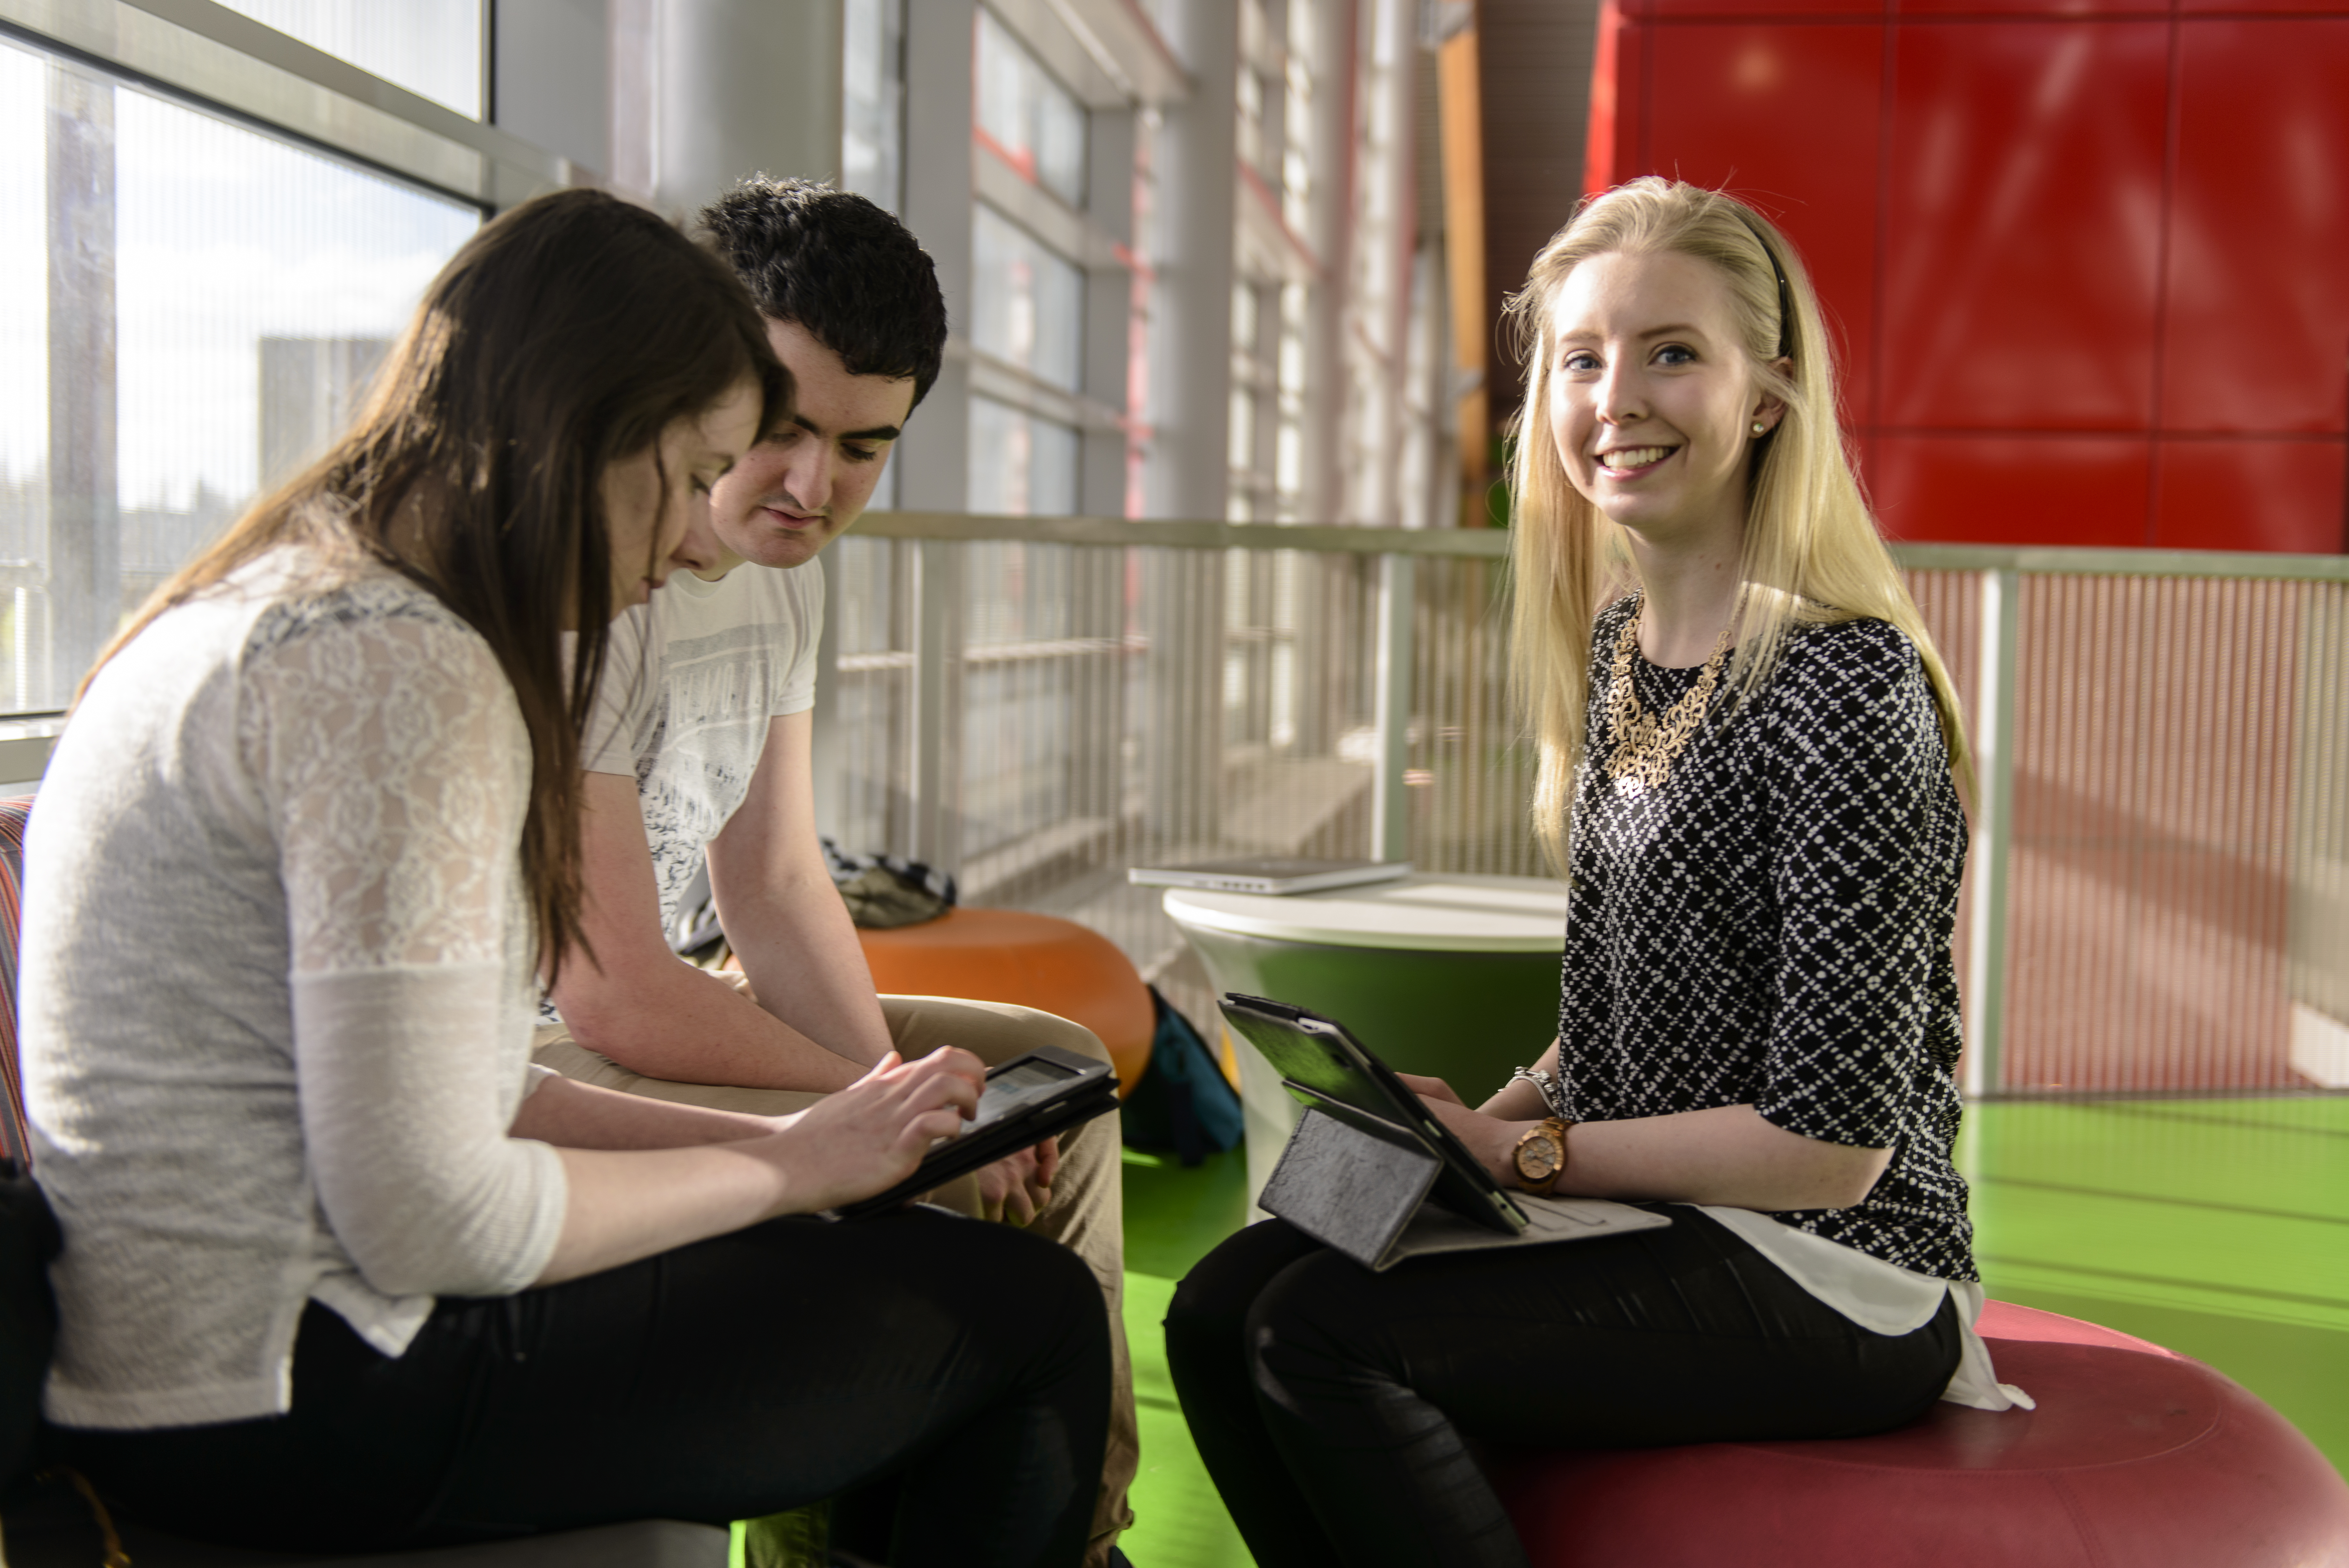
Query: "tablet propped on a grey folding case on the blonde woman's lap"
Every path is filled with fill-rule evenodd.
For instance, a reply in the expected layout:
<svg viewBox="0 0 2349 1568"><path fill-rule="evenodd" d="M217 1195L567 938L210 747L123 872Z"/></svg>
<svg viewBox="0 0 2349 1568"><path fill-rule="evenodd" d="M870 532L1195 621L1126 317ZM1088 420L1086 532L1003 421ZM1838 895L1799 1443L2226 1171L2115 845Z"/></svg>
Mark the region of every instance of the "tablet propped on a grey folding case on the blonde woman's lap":
<svg viewBox="0 0 2349 1568"><path fill-rule="evenodd" d="M1226 992L1221 1006L1233 1032L1264 1053L1299 1103L1325 1114L1344 1107L1419 1133L1442 1159L1433 1197L1445 1208L1501 1234L1525 1229L1525 1211L1508 1190L1346 1025L1287 1001L1238 992Z"/></svg>

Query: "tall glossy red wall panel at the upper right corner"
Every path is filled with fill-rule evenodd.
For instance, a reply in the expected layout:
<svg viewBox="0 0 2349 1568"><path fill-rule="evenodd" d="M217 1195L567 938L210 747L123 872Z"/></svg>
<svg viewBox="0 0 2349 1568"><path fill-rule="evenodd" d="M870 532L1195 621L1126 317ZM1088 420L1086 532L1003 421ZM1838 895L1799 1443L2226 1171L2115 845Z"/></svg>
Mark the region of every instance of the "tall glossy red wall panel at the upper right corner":
<svg viewBox="0 0 2349 1568"><path fill-rule="evenodd" d="M2349 428L2349 19L2182 26L2161 423Z"/></svg>

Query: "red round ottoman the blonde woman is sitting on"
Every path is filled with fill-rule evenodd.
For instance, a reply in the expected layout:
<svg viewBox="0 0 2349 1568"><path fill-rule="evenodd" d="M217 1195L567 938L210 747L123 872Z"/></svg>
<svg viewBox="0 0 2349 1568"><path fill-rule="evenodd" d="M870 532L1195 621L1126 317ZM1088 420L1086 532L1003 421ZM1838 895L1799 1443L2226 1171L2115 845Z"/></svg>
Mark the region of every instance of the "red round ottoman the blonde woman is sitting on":
<svg viewBox="0 0 2349 1568"><path fill-rule="evenodd" d="M1536 1568L2349 1568L2349 1483L2199 1361L1990 1302L2037 1410L1879 1436L1494 1455Z"/></svg>

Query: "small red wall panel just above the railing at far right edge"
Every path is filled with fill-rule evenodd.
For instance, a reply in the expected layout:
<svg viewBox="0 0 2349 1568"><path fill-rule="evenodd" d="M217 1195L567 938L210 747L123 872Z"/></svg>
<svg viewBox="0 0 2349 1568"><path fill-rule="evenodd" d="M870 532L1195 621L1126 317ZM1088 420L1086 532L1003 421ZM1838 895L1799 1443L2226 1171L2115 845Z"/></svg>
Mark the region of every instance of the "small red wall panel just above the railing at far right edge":
<svg viewBox="0 0 2349 1568"><path fill-rule="evenodd" d="M2342 442L2163 442L2154 543L2342 550Z"/></svg>

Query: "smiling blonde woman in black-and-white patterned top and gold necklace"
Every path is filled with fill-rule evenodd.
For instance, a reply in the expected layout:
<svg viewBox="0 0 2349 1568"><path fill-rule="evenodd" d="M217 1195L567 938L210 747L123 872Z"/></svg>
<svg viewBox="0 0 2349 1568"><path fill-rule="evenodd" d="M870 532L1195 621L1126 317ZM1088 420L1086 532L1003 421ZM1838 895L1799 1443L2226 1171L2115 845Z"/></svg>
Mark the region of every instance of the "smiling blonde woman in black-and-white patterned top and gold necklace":
<svg viewBox="0 0 2349 1568"><path fill-rule="evenodd" d="M1950 1164L1966 745L1851 477L1802 261L1743 202L1642 179L1586 202L1510 308L1560 1037L1482 1107L1412 1086L1499 1180L1672 1225L1367 1274L1268 1222L1203 1260L1167 1352L1261 1568L1525 1563L1470 1441L2011 1403Z"/></svg>

